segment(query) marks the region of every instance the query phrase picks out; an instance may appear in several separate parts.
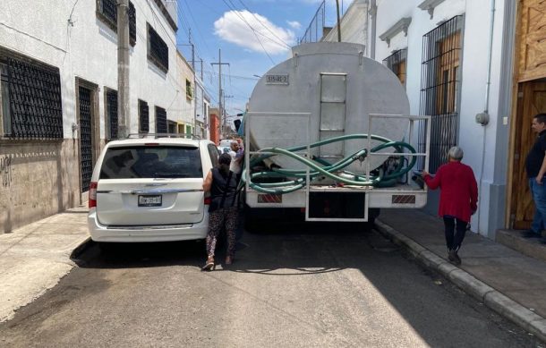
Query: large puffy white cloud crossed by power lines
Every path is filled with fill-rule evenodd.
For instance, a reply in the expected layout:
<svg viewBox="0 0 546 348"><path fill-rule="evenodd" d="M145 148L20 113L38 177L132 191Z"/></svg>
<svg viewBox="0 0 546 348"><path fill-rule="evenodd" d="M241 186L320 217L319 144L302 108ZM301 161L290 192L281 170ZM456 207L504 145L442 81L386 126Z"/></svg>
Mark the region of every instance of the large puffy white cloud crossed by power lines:
<svg viewBox="0 0 546 348"><path fill-rule="evenodd" d="M292 30L277 27L266 17L246 10L224 13L214 22L214 33L228 42L255 52L263 52L265 49L269 55L285 53L289 49L286 45L293 46L295 43Z"/></svg>

